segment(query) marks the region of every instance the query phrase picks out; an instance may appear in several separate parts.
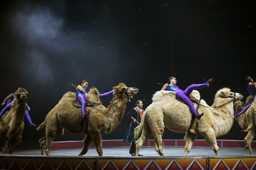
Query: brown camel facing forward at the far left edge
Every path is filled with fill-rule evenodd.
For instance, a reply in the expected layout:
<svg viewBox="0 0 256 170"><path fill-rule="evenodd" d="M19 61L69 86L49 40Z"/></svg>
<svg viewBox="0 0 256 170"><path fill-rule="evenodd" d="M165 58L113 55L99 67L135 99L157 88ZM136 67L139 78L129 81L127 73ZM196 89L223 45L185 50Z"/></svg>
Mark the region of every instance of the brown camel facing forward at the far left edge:
<svg viewBox="0 0 256 170"><path fill-rule="evenodd" d="M7 153L12 154L14 146L21 142L28 91L24 88L19 88L15 95L16 98L12 103L12 109L4 114L0 122L0 153L4 152L4 147L8 144Z"/></svg>

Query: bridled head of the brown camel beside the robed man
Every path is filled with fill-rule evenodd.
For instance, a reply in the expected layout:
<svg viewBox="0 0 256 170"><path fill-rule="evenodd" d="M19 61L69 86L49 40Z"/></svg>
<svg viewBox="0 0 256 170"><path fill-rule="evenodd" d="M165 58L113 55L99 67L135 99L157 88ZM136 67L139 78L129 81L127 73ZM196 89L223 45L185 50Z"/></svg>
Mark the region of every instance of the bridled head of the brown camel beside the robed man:
<svg viewBox="0 0 256 170"><path fill-rule="evenodd" d="M139 89L137 89L136 87L127 87L124 83L119 83L117 86L113 87L113 89L113 95L124 93L131 98L133 97L133 95L139 92Z"/></svg>

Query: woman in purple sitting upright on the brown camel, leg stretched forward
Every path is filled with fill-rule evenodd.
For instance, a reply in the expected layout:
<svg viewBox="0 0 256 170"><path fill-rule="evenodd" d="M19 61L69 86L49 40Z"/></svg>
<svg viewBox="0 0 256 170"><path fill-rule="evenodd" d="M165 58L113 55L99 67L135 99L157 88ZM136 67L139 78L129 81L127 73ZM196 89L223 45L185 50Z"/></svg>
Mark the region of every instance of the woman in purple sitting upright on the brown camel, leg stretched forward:
<svg viewBox="0 0 256 170"><path fill-rule="evenodd" d="M80 85L74 85L74 84L70 84L73 85L74 87L76 87L76 95L77 95L77 100L78 102L81 104L81 112L83 117L85 115L88 115L88 113L85 113L85 106L86 106L86 99L88 98L88 94L86 89L88 88L88 82L85 80L82 80L79 82ZM107 93L103 93L103 94L99 94L99 97L107 97L108 95L112 94L114 92L114 90L111 90Z"/></svg>

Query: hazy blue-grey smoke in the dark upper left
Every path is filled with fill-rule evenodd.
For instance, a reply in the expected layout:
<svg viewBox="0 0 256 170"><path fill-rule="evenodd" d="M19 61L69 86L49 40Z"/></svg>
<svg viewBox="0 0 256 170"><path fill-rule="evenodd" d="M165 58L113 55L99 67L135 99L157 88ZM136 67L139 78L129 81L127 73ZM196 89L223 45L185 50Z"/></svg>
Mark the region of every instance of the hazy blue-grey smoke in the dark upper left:
<svg viewBox="0 0 256 170"><path fill-rule="evenodd" d="M87 14L81 13L85 16L83 23L67 18L64 12L60 15L47 5L37 4L33 8L23 5L12 22L21 47L17 55L25 59L23 62L28 67L22 75L33 77L32 81L47 83L53 79L63 81L68 76L80 80L85 70L90 70L86 79L88 76L102 77L102 72L107 71L109 76L117 73L111 65L120 61L125 42L118 43L123 42L120 41L122 35L108 23L108 19L113 20L110 8L103 4L102 9L106 10L99 14L104 16L101 21L100 16L94 16L99 22L91 22L86 18Z"/></svg>

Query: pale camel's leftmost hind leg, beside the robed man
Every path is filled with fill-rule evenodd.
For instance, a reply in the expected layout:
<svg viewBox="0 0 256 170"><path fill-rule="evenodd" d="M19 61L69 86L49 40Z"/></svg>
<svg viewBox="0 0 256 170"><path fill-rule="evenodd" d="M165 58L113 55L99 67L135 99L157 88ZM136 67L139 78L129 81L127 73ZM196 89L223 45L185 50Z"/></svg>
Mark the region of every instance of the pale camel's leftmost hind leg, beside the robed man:
<svg viewBox="0 0 256 170"><path fill-rule="evenodd" d="M143 130L142 130L142 133L141 133L141 136L140 136L140 139L138 139L136 142L135 142L135 155L138 156L139 155L139 152L140 152L140 148L141 146L152 136L152 133L151 133L151 130L148 126L148 123L145 122L143 124Z"/></svg>

